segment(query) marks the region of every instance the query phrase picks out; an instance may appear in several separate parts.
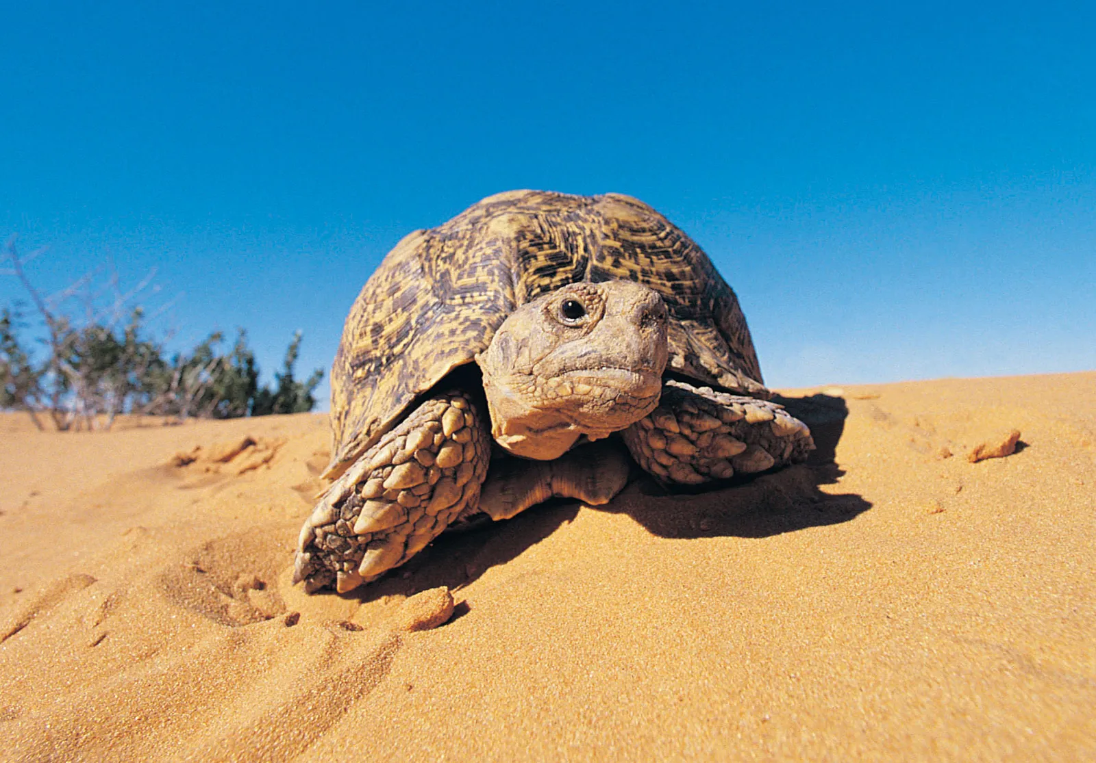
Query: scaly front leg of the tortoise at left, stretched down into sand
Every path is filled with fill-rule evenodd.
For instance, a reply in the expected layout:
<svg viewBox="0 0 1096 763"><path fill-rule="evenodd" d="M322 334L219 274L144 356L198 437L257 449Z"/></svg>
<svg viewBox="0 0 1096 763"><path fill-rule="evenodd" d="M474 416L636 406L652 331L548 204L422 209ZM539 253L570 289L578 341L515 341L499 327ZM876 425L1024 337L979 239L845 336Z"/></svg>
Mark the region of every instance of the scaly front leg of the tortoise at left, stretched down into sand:
<svg viewBox="0 0 1096 763"><path fill-rule="evenodd" d="M294 582L345 593L419 553L478 505L489 438L470 395L421 403L320 497L297 540Z"/></svg>

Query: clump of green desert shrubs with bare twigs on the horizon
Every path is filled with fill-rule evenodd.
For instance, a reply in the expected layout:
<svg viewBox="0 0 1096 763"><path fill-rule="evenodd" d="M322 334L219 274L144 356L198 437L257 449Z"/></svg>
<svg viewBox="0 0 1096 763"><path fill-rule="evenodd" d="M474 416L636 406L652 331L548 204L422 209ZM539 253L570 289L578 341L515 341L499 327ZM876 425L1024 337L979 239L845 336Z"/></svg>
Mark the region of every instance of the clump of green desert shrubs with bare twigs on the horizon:
<svg viewBox="0 0 1096 763"><path fill-rule="evenodd" d="M163 340L152 336L144 309L128 307L151 274L129 293L122 293L112 276L111 297L103 305L98 299L102 290L89 276L43 298L23 268L30 258L20 258L13 241L7 256L10 273L42 319L45 337L42 351L31 351L21 338L27 323L20 305L0 311L0 408L26 411L39 428L39 413L67 430L110 428L121 413L180 420L304 413L316 406L313 392L323 372L317 369L304 382L294 378L300 332L289 343L283 370L274 374L274 386L260 385L242 328L231 347L215 332L192 350L164 357Z"/></svg>

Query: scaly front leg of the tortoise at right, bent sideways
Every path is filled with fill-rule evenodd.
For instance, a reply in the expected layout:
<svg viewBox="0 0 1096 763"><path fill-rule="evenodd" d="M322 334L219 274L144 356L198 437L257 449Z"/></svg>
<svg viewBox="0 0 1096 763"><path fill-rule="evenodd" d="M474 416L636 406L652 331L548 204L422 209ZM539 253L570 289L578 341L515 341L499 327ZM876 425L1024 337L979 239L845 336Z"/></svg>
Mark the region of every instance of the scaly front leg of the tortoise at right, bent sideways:
<svg viewBox="0 0 1096 763"><path fill-rule="evenodd" d="M664 485L700 485L802 461L810 429L783 406L678 381L659 407L621 432L632 456Z"/></svg>

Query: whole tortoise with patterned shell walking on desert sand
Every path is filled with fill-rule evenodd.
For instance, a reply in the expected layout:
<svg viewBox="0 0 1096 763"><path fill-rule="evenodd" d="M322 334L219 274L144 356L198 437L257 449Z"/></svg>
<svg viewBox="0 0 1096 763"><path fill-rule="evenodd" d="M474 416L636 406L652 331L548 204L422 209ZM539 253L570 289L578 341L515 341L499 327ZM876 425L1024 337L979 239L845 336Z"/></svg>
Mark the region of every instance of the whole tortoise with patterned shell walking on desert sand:
<svg viewBox="0 0 1096 763"><path fill-rule="evenodd" d="M632 463L696 489L803 460L809 428L770 397L738 298L662 215L621 194L490 196L402 239L351 308L334 482L294 582L346 592L473 515L605 504Z"/></svg>

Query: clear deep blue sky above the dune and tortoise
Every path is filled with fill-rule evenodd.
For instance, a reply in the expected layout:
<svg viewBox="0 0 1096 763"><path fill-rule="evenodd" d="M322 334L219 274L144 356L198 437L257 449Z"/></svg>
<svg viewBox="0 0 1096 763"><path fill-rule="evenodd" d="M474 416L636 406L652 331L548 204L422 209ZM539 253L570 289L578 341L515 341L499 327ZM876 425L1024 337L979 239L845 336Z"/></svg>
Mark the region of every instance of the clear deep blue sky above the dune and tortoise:
<svg viewBox="0 0 1096 763"><path fill-rule="evenodd" d="M1096 368L1091 3L10 4L0 236L328 368L404 233L648 201L791 386ZM0 277L0 304L19 296ZM324 389L324 395L327 391Z"/></svg>

